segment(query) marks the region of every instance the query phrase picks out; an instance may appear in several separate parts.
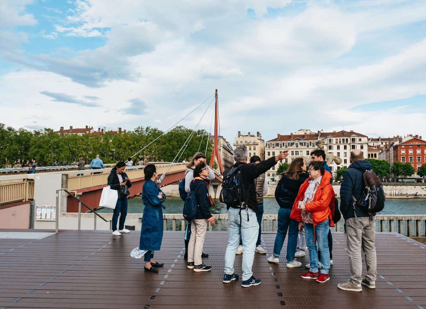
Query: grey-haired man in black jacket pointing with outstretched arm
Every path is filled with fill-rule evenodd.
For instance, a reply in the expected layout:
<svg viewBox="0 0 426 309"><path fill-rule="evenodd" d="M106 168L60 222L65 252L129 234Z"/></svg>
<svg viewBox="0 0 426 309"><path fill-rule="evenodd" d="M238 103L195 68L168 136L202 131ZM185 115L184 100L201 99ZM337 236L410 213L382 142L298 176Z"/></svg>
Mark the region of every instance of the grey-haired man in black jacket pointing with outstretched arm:
<svg viewBox="0 0 426 309"><path fill-rule="evenodd" d="M228 208L228 245L225 253L225 276L224 283L229 283L238 279L238 275L234 273L235 252L239 245L240 237L242 240L242 287L249 287L260 284L261 280L253 276L251 267L253 265L254 249L259 233L259 224L257 223L256 212L258 204L256 199L256 186L254 179L265 173L273 167L279 160L285 159L288 155L288 150L283 151L278 156L271 157L268 160L262 161L259 164L249 163L248 150L244 145L237 147L234 150L235 166L241 171L242 182L246 190L248 190L247 208L241 210L239 208ZM250 185L251 184L251 185ZM240 235L241 231L241 235Z"/></svg>

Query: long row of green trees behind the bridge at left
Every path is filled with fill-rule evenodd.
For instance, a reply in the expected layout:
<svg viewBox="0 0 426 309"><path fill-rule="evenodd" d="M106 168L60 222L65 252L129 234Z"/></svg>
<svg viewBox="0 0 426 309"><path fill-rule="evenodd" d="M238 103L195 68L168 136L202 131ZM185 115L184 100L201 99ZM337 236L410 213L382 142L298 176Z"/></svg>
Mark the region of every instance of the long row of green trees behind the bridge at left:
<svg viewBox="0 0 426 309"><path fill-rule="evenodd" d="M142 148L144 149L141 150ZM0 123L2 166L28 166L32 157L36 159L38 166L75 164L80 156L89 164L97 154L104 163L145 156L148 156L150 162L182 162L198 151L206 152L209 162L212 150L212 141L205 130L193 132L183 126L175 127L167 133L157 128L138 127L121 134L107 132L103 136L90 136L87 133L79 136L60 135L48 128L35 131L23 128L15 130Z"/></svg>

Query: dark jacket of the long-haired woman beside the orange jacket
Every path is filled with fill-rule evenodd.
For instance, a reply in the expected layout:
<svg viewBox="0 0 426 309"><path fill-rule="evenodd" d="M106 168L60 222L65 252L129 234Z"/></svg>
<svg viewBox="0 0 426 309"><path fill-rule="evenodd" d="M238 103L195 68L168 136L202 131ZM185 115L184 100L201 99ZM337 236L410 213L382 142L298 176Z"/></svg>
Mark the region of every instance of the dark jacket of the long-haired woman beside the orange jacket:
<svg viewBox="0 0 426 309"><path fill-rule="evenodd" d="M279 207L291 209L302 183L309 178L308 173L300 173L299 179L282 175L275 189L275 199Z"/></svg>

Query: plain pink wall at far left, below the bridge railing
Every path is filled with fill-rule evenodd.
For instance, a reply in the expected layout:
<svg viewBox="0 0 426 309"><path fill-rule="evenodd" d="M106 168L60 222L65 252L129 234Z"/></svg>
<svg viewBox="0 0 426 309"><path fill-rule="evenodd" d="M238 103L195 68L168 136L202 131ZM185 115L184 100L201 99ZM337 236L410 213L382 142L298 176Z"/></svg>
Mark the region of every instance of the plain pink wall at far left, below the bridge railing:
<svg viewBox="0 0 426 309"><path fill-rule="evenodd" d="M0 207L0 229L29 229L29 202Z"/></svg>

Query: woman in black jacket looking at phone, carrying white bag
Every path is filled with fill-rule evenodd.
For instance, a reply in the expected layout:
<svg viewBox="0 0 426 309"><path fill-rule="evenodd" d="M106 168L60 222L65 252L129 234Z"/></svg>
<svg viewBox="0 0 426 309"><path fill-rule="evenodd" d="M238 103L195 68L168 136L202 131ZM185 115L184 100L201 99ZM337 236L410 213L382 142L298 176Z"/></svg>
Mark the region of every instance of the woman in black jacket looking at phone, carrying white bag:
<svg viewBox="0 0 426 309"><path fill-rule="evenodd" d="M132 187L132 182L130 181L127 174L124 173L126 168L126 163L120 161L112 168L111 173L108 176L108 185L112 190L119 190L120 187L124 187L124 192L127 191L127 188ZM118 215L120 215L120 222L118 224L117 230L117 221ZM123 194L120 196L118 194L117 204L115 204L114 214L112 215L112 235L119 236L121 233L128 233L129 230L124 228L124 221L126 221L127 216L127 195Z"/></svg>

